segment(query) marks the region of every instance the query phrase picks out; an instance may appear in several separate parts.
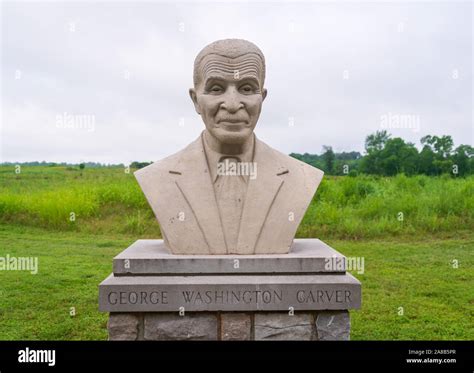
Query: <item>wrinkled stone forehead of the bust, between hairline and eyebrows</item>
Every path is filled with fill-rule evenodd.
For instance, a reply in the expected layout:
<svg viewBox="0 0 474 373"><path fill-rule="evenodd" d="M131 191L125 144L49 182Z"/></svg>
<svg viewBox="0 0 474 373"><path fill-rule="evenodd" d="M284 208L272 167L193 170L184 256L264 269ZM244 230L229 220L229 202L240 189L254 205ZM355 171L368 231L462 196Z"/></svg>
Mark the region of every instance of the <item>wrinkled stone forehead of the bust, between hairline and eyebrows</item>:
<svg viewBox="0 0 474 373"><path fill-rule="evenodd" d="M212 76L232 76L235 79L253 77L262 83L264 68L256 53L244 53L237 57L209 53L201 59L197 73L200 80Z"/></svg>

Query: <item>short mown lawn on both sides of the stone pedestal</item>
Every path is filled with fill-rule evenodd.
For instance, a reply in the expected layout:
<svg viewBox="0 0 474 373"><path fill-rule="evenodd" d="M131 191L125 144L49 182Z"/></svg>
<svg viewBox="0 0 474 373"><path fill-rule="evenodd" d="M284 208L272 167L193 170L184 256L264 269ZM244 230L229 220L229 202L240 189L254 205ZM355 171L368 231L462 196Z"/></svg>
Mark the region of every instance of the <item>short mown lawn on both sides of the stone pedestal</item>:
<svg viewBox="0 0 474 373"><path fill-rule="evenodd" d="M0 340L105 340L98 284L138 238L1 225L0 253L37 256L39 271L0 271ZM474 339L474 235L326 242L365 260L353 340Z"/></svg>

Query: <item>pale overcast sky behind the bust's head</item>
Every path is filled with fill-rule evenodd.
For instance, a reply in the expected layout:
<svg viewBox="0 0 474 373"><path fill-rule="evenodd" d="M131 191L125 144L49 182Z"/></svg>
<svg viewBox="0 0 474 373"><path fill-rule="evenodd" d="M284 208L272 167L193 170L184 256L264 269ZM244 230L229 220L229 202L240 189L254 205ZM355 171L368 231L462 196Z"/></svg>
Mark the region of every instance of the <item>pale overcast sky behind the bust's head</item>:
<svg viewBox="0 0 474 373"><path fill-rule="evenodd" d="M257 136L284 152L363 151L387 129L473 142L472 3L4 3L0 161L155 161L204 128L196 54L266 56ZM404 128L400 128L404 127Z"/></svg>

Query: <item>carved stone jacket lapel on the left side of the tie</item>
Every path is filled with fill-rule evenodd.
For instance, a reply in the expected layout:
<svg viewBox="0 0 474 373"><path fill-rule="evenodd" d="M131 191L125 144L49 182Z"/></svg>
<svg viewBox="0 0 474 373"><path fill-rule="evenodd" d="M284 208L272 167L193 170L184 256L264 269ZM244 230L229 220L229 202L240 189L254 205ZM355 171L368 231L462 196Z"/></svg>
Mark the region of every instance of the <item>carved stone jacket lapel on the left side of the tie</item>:
<svg viewBox="0 0 474 373"><path fill-rule="evenodd" d="M189 145L180 162L170 170L180 175L176 184L193 211L210 254L227 252L224 231L201 136Z"/></svg>

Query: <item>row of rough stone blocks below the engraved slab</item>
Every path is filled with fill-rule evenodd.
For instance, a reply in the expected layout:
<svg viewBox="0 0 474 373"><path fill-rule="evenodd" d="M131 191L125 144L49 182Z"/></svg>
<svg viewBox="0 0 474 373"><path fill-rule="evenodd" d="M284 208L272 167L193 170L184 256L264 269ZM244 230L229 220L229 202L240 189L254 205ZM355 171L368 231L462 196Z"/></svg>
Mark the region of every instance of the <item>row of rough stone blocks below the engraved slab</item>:
<svg viewBox="0 0 474 373"><path fill-rule="evenodd" d="M348 311L110 313L109 340L349 340Z"/></svg>

